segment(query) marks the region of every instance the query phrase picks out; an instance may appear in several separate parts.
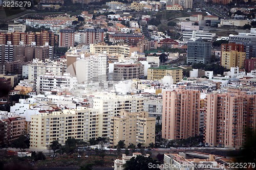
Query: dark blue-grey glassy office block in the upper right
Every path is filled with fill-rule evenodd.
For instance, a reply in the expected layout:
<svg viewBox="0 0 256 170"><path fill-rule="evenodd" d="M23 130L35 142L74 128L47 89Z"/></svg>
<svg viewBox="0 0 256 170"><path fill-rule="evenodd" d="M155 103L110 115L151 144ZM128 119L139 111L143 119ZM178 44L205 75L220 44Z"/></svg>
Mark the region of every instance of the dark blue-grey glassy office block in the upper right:
<svg viewBox="0 0 256 170"><path fill-rule="evenodd" d="M187 43L187 63L210 63L211 43L202 39L188 41Z"/></svg>

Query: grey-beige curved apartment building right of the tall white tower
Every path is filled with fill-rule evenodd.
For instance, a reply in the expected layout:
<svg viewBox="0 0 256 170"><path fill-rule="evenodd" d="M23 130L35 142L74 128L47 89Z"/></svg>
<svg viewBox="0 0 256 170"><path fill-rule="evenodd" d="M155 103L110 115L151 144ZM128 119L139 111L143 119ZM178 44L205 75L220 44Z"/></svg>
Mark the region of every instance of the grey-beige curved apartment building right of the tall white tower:
<svg viewBox="0 0 256 170"><path fill-rule="evenodd" d="M144 76L144 65L138 63L114 63L113 81L139 79Z"/></svg>

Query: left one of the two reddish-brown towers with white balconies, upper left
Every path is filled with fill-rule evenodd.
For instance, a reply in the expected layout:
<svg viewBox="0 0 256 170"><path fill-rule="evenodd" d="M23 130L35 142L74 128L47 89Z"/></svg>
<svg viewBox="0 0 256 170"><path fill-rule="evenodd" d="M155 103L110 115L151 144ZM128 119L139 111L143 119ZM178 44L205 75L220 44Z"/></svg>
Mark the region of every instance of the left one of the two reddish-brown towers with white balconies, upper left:
<svg viewBox="0 0 256 170"><path fill-rule="evenodd" d="M59 46L73 47L75 45L75 30L61 29L59 30Z"/></svg>

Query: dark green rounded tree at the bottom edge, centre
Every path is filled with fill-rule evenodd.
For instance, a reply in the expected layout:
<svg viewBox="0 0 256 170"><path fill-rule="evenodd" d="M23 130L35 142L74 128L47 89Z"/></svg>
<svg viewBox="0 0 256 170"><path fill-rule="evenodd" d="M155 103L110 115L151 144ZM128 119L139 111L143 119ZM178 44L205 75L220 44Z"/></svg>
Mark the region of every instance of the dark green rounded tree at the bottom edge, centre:
<svg viewBox="0 0 256 170"><path fill-rule="evenodd" d="M153 168L150 166L153 164L157 166L157 165L160 165L161 163L155 159L152 159L151 157L144 157L144 156L138 155L136 158L132 157L129 161L126 161L126 163L123 165L123 167L124 167L124 170L160 169L160 168Z"/></svg>

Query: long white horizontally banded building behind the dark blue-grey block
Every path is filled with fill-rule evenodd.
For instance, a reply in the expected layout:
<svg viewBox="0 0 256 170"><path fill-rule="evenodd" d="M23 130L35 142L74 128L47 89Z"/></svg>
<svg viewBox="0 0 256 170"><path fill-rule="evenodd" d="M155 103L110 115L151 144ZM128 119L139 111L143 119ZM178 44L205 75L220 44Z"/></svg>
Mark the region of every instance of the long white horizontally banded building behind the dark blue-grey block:
<svg viewBox="0 0 256 170"><path fill-rule="evenodd" d="M206 33L201 30L190 31L190 32L184 31L182 33L183 41L188 41L190 38L196 38L196 39L202 38L207 41L214 41L215 37L216 37L215 33Z"/></svg>

